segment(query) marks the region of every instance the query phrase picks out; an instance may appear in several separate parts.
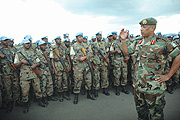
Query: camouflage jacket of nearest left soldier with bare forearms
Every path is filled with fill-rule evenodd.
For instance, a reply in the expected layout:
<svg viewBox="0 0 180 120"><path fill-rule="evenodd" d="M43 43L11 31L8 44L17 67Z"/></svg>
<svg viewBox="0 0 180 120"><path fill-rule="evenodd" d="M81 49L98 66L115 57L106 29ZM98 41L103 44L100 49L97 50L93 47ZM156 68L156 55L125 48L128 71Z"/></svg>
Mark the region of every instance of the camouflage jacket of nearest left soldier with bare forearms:
<svg viewBox="0 0 180 120"><path fill-rule="evenodd" d="M25 51L23 48L19 52L21 52L27 59L32 61L33 64L37 64L38 62L40 62L38 55L31 49ZM25 59L19 52L17 52L15 55L14 64L17 64L22 59ZM20 79L21 80L30 80L30 79L34 79L35 77L37 77L37 76L34 73L34 71L32 70L30 65L25 65L25 64L21 65L21 67L20 67Z"/></svg>

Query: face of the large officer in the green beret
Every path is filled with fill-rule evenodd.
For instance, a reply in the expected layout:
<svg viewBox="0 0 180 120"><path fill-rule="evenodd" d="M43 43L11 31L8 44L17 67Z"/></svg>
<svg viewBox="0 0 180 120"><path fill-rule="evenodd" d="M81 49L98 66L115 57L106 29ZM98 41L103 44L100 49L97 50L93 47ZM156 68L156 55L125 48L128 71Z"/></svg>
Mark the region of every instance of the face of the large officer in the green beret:
<svg viewBox="0 0 180 120"><path fill-rule="evenodd" d="M155 27L154 25L141 25L140 30L143 37L148 37L154 32Z"/></svg>

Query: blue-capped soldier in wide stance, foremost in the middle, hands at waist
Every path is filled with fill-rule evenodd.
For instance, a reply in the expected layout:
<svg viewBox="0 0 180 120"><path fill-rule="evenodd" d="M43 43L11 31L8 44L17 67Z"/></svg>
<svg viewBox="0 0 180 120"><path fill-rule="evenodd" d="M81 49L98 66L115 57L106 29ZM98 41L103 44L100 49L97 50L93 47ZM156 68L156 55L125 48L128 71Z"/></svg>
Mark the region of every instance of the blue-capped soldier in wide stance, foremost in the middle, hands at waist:
<svg viewBox="0 0 180 120"><path fill-rule="evenodd" d="M91 100L95 100L95 98L91 94L91 72L86 63L86 60L89 61L92 57L92 54L85 49L83 44L83 33L76 34L77 42L73 44L73 52L71 52L71 56L73 57L73 69L74 69L74 104L78 103L78 95L81 90L81 85L83 78L85 80L85 88L87 90L87 98ZM83 51L84 49L84 51ZM86 55L83 53L85 52Z"/></svg>

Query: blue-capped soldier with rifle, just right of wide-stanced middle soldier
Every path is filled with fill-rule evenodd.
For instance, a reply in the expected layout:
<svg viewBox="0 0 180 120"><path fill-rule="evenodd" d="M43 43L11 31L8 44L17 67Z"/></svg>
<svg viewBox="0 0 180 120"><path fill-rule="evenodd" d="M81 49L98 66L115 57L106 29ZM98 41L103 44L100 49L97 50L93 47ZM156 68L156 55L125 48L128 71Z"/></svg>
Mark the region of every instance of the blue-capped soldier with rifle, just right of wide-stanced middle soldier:
<svg viewBox="0 0 180 120"><path fill-rule="evenodd" d="M107 52L107 43L102 42L102 32L98 32L96 33L96 38L97 41L93 42L92 44L92 51L94 56L97 58L96 60L94 60L94 66L95 66L95 78L96 81L93 81L94 84L94 88L95 88L95 97L98 97L98 90L101 88L103 88L103 94L109 96L109 92L108 92L108 86L109 86L109 82L108 82L108 69L107 66L108 64L105 62L104 59L107 60L108 58L108 52ZM99 53L99 51L102 52L103 56Z"/></svg>

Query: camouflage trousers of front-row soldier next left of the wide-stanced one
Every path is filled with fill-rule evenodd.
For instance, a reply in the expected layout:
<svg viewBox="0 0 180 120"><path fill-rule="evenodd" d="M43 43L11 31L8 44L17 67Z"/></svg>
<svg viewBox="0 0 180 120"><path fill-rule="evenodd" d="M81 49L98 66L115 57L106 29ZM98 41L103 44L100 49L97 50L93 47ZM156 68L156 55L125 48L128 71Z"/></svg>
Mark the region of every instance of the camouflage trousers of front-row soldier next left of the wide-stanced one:
<svg viewBox="0 0 180 120"><path fill-rule="evenodd" d="M68 91L68 81L67 74L65 71L59 71L59 76L55 75L55 84L57 87L57 92Z"/></svg>

